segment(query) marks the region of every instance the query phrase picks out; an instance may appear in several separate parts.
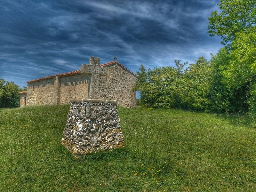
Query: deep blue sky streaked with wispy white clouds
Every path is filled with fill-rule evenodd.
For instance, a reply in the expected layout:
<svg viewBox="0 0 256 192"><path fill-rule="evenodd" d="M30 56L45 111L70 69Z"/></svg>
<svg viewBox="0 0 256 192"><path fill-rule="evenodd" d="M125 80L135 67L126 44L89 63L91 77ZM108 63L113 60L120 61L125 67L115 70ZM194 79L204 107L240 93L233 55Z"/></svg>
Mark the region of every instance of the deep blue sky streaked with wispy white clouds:
<svg viewBox="0 0 256 192"><path fill-rule="evenodd" d="M26 81L77 70L100 57L133 72L210 60L222 47L207 33L216 0L1 1L0 78Z"/></svg>

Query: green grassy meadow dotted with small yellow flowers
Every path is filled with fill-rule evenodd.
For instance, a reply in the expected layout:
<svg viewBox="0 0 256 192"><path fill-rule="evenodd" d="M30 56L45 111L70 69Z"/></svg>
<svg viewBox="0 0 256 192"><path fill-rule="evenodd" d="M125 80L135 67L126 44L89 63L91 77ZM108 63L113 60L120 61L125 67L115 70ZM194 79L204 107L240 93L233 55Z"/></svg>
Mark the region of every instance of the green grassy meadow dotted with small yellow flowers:
<svg viewBox="0 0 256 192"><path fill-rule="evenodd" d="M0 191L256 191L255 128L218 114L119 108L126 147L74 159L60 144L68 109L0 110Z"/></svg>

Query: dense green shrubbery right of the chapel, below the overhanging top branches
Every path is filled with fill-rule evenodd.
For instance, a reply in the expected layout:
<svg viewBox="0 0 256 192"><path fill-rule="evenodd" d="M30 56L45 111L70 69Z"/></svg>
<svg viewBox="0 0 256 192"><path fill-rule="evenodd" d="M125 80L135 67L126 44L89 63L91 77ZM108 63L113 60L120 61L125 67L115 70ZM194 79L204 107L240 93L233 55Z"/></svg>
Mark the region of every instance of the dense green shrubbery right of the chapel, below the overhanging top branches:
<svg viewBox="0 0 256 192"><path fill-rule="evenodd" d="M242 34L229 50L220 49L210 62L199 57L186 70L183 70L185 64L177 60L176 67L155 67L146 71L141 65L135 89L140 91L142 105L255 114L255 37ZM246 39L247 43L243 43Z"/></svg>

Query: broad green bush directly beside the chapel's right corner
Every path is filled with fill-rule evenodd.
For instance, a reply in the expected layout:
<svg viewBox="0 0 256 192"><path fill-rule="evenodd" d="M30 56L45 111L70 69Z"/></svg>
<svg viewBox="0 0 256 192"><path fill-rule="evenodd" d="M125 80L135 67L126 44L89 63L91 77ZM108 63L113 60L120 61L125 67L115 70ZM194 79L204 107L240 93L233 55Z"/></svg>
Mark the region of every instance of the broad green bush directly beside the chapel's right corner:
<svg viewBox="0 0 256 192"><path fill-rule="evenodd" d="M182 86L178 84L183 76L183 67L187 64L175 60L177 68L155 67L148 69L141 65L140 72L137 71L137 83L135 90L140 91L141 103L144 106L156 108L177 108L182 106ZM183 81L180 81L183 83Z"/></svg>

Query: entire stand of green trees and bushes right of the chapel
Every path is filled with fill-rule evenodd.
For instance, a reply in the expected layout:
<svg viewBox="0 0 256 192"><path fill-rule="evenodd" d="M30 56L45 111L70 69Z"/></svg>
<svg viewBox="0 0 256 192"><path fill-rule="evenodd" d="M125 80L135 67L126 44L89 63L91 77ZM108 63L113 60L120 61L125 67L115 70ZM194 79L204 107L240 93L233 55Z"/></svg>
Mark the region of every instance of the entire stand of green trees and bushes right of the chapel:
<svg viewBox="0 0 256 192"><path fill-rule="evenodd" d="M219 35L224 47L210 61L199 57L176 67L137 71L135 90L141 103L155 108L256 112L256 3L223 0L221 12L209 18L210 36Z"/></svg>

